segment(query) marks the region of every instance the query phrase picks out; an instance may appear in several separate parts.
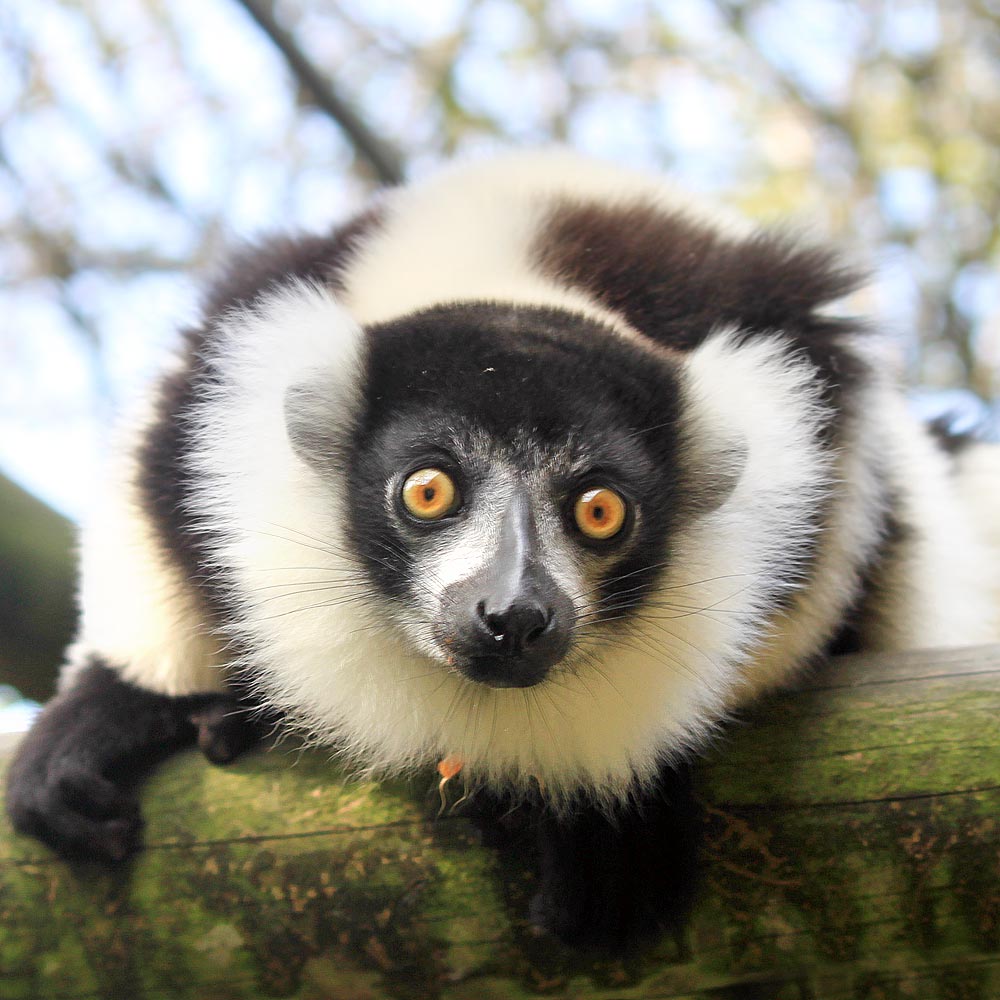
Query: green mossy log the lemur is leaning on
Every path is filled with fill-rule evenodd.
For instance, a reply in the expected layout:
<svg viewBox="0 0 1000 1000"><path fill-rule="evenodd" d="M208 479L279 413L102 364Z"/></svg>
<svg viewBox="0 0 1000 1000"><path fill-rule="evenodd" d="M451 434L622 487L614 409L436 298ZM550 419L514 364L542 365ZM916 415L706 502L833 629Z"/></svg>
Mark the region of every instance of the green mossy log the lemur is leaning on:
<svg viewBox="0 0 1000 1000"><path fill-rule="evenodd" d="M522 920L433 776L352 784L320 754L195 754L145 796L125 869L0 829L0 995L17 998L1000 997L1000 647L850 658L699 768L700 895L639 954Z"/></svg>

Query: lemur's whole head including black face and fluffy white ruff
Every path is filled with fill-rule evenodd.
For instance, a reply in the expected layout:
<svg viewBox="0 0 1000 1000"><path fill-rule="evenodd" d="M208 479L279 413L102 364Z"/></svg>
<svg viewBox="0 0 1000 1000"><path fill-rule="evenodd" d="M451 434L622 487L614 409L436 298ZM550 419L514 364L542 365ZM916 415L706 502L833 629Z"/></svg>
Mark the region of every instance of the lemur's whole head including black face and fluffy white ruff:
<svg viewBox="0 0 1000 1000"><path fill-rule="evenodd" d="M827 472L781 342L495 301L359 325L300 285L225 326L202 504L293 722L372 773L611 802L725 715Z"/></svg>

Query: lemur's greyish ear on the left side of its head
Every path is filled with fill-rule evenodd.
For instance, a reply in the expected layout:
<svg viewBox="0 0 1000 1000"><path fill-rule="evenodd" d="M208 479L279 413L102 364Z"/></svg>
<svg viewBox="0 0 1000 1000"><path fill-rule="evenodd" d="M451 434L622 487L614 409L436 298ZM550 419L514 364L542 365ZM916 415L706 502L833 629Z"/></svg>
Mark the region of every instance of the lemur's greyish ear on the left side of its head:
<svg viewBox="0 0 1000 1000"><path fill-rule="evenodd" d="M332 373L317 373L285 391L285 429L292 450L321 474L343 467L351 417Z"/></svg>

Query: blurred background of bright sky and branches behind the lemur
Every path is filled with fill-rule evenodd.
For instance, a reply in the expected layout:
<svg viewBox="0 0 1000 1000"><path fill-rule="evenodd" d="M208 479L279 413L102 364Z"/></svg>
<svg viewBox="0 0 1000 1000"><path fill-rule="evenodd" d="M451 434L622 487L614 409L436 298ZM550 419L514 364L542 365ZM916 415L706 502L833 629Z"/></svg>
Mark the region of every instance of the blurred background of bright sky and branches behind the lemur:
<svg viewBox="0 0 1000 1000"><path fill-rule="evenodd" d="M996 426L1000 0L0 0L0 729L227 244L553 141L838 241L917 403Z"/></svg>

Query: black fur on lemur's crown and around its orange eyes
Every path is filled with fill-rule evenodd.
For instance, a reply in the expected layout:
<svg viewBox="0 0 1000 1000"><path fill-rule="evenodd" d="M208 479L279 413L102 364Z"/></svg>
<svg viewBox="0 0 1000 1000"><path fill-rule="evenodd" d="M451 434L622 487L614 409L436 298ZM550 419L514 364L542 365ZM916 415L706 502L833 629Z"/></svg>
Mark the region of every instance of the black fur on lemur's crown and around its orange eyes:
<svg viewBox="0 0 1000 1000"><path fill-rule="evenodd" d="M349 500L354 544L385 593L405 597L420 536L448 528L403 537L405 525L383 515L385 483L434 464L471 498L495 458L475 448L485 431L522 467L544 463L560 496L589 485L570 469L577 458L638 502L642 521L609 562L603 596L618 586L626 603L641 601L656 577L649 567L706 498L682 472L683 385L672 363L604 330L595 336L595 326L559 310L471 303L369 331ZM552 454L571 439L575 455Z"/></svg>

